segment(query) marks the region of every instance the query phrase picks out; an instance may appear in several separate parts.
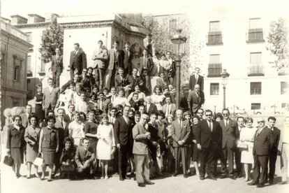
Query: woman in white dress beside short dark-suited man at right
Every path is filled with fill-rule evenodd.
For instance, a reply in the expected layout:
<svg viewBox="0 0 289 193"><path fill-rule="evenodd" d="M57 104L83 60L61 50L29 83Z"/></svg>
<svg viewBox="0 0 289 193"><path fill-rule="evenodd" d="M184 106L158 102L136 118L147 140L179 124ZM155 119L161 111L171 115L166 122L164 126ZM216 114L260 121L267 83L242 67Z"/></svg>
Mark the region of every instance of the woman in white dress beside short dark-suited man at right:
<svg viewBox="0 0 289 193"><path fill-rule="evenodd" d="M252 126L253 119L247 117L245 120L246 127L242 128L240 133L240 141L246 143L248 148L242 150L241 162L244 164L244 171L246 174L245 181L249 181L249 172L254 164L253 158L253 142L256 128Z"/></svg>

